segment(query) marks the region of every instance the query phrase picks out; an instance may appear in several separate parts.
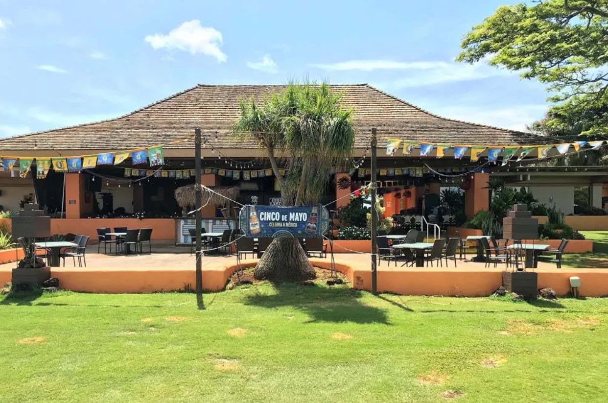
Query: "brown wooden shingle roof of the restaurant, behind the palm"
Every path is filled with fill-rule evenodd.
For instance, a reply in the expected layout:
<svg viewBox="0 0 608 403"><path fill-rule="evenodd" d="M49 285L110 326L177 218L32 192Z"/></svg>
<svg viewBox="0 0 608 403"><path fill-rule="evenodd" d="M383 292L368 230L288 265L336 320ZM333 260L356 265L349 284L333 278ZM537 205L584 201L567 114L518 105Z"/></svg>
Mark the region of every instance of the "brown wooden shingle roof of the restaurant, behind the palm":
<svg viewBox="0 0 608 403"><path fill-rule="evenodd" d="M383 137L451 144L542 143L530 133L446 119L385 94L367 84L332 85L354 110L356 147L365 148L372 127ZM240 100L282 91L283 85L202 85L171 95L116 119L0 139L1 150L125 150L168 143L201 128L215 148L256 148L229 133ZM217 134L215 134L217 132ZM217 138L216 138L217 137ZM192 148L191 142L174 148Z"/></svg>

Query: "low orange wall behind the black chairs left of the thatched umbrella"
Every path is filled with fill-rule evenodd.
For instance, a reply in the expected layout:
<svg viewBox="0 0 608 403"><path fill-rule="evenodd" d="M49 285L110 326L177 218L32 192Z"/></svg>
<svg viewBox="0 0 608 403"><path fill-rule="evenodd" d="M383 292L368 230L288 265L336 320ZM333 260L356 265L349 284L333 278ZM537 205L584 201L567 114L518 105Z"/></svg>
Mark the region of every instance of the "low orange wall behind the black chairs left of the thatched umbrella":
<svg viewBox="0 0 608 403"><path fill-rule="evenodd" d="M175 239L175 220L173 218L52 218L50 233L88 235L92 242L97 241L98 228L151 228L152 239Z"/></svg>

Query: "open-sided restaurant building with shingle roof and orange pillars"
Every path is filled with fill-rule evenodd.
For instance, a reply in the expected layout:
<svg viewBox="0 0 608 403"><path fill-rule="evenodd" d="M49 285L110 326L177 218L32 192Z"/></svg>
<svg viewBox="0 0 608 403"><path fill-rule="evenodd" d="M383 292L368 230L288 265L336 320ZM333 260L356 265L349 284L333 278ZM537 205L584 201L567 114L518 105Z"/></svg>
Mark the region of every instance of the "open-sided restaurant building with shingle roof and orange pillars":
<svg viewBox="0 0 608 403"><path fill-rule="evenodd" d="M500 160L499 164L486 164L492 149L542 145L547 143L543 137L439 117L367 84L331 87L343 94L344 106L353 109L356 140L352 167L328 178L323 204L339 199L328 206L330 209L348 203L342 196L370 181L371 128L378 132L378 181L388 214L424 209L429 201L438 203L441 187L460 187L466 193L466 214L471 216L488 208L490 175L502 176L513 186L532 187L534 195L542 196L541 202L560 203L565 213L572 207L575 187L589 187L596 207L603 207L602 198L608 196L602 167L576 172L537 168L528 162L535 160L534 154L517 164L501 166ZM284 88L199 84L116 119L0 139L0 156L15 164L4 162L0 205L16 211L22 202L35 200L54 218L53 233L78 231L95 236L99 227L151 227L156 239L184 242L193 222L182 217L184 209L174 192L195 182L195 128L202 132L202 184L236 187L237 201L242 204L280 204L280 189L264 150L254 139L232 133L230 127L240 115L241 100L261 101ZM391 139L416 145L404 154L404 143L400 143L394 153L387 154L384 150ZM419 145L426 143L446 148L435 146L424 156ZM152 166L149 159L134 164L129 157L120 164L94 164L65 173L51 168L44 177L36 175L36 160L108 153L117 156L157 145L162 145L162 165ZM468 146L457 159L454 150L458 145L485 145L487 150L471 159L471 153L478 151ZM437 154L440 152L443 156ZM19 159L34 160L29 173L19 174L19 164L15 163ZM207 230L230 225L217 207L209 204L202 210ZM234 206L227 207L227 215L233 215L230 209Z"/></svg>

